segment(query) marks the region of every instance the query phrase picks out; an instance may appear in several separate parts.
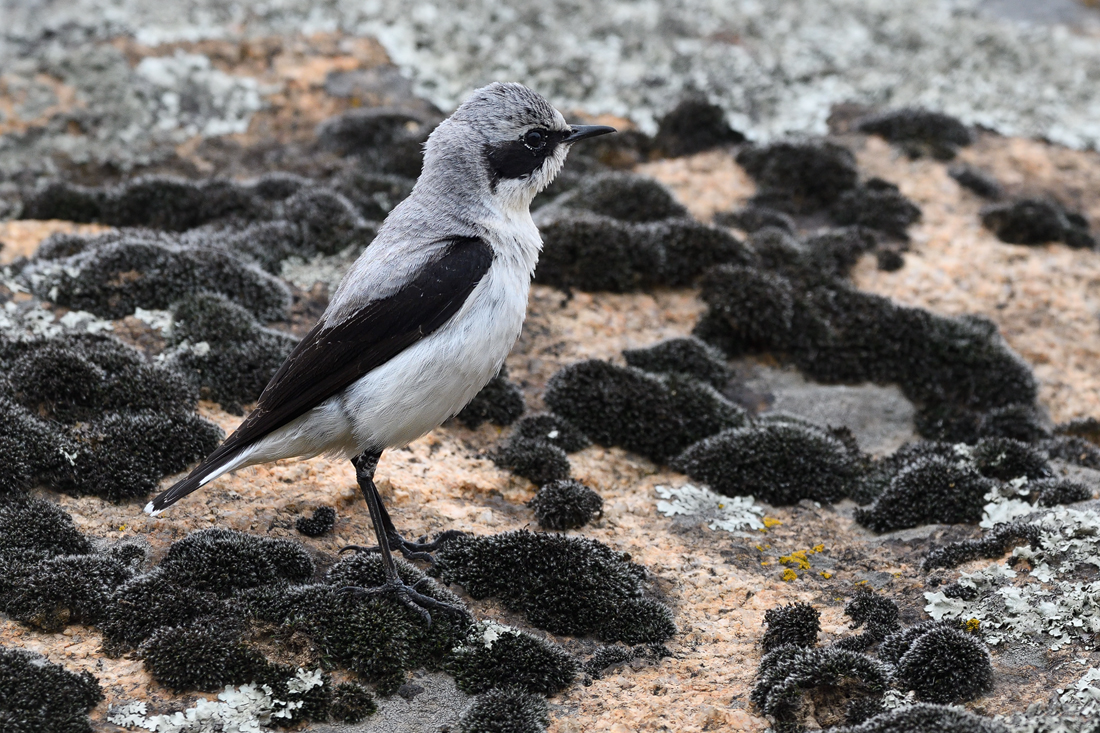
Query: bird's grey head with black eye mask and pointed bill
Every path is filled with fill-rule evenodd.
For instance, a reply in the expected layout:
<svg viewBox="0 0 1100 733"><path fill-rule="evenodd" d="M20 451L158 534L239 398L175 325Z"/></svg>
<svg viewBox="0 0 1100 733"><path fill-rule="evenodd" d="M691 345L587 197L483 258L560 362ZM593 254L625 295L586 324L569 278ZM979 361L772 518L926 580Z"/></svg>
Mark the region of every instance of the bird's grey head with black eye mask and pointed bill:
<svg viewBox="0 0 1100 733"><path fill-rule="evenodd" d="M461 172L504 208L526 209L550 185L573 143L615 132L569 124L540 95L520 84L491 84L474 91L428 138L425 174ZM473 192L471 192L473 193Z"/></svg>

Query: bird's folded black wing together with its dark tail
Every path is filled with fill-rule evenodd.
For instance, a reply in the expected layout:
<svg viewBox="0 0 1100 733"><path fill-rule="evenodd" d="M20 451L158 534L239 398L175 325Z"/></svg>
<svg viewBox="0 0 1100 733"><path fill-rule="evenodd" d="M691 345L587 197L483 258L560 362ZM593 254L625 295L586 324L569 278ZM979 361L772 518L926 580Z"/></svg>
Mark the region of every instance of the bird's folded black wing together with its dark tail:
<svg viewBox="0 0 1100 733"><path fill-rule="evenodd" d="M233 435L186 479L153 500L153 511L170 506L199 486L211 467L321 404L446 324L493 263L488 244L475 237L451 240L400 292L373 300L354 316L306 335L272 381L255 409Z"/></svg>

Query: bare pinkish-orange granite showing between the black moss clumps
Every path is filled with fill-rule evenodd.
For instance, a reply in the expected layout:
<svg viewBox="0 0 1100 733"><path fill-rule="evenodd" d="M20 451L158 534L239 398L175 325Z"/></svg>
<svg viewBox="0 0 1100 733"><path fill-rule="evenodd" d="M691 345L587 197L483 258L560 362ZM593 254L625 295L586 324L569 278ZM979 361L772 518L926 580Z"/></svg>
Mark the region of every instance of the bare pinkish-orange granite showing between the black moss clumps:
<svg viewBox="0 0 1100 733"><path fill-rule="evenodd" d="M144 68L145 86L136 91L110 87L97 97L88 91L90 83L74 88L59 73L0 76L0 167L6 186L0 194L9 215L18 212L16 194L24 186L53 177L85 185L113 183L135 173L243 179L287 169L323 177L342 163L339 155L311 147L321 121L383 105L436 113L430 102L414 96L411 84L389 64L383 47L367 37L317 33L244 43L154 43L120 35L97 40L94 47L105 84L119 69ZM48 55L42 48L34 53L42 58ZM204 58L206 66L198 62L188 66L184 63L188 58ZM174 118L172 124L161 125L166 130L163 134L146 134L157 129L157 119L166 119L169 112L182 114L164 101L164 89L156 89L164 77L146 64L148 59L176 59L179 68L190 69L193 99L206 105L191 110L191 123L206 125L215 120L226 128L207 134ZM157 98L157 103L148 101ZM133 138L134 149L121 157L111 146L121 150L128 141L117 130L97 138L96 128L103 106L119 99L133 102L131 111L144 110L148 116L141 124L143 131ZM614 123L629 127L626 120ZM887 272L877 266L873 254L865 254L853 270L855 286L937 314L988 317L1033 368L1040 406L1049 422L1100 415L1097 252L1060 243L1026 247L999 241L982 227L979 209L986 201L961 188L948 175L946 163L912 160L880 138L850 132L840 124L834 131L833 140L855 153L865 177L895 183L922 210L921 220L909 229L904 266ZM131 155L134 151L136 157ZM641 161L629 169L661 182L692 216L710 222L715 214L739 208L757 193L735 156L736 149L726 146ZM35 163L26 167L31 158ZM125 166L117 166L123 158ZM957 162L989 172L1010 196L1053 196L1090 221L1100 221L1100 154L1096 152L982 131L959 152ZM111 230L103 225L10 218L0 221L0 263L32 255L55 232ZM294 317L273 324L274 328L300 336L308 330L311 315L323 307L326 287L304 287L300 282L309 272L306 269L306 275L296 277ZM10 284L4 287L6 302L30 298ZM58 316L65 313L50 303L46 307ZM527 411L538 412L544 408L547 381L562 366L582 359L624 363L624 349L689 336L704 310L698 291L691 287L617 294L564 293L536 285L524 333L507 361L509 379L521 389ZM123 340L143 348L155 337L153 329L133 317L114 320L112 328ZM739 358L730 365L738 401L756 412L784 412L822 425L847 426L864 450L877 456L917 438L914 406L897 386L816 384L770 357ZM198 413L227 433L242 419L209 400L199 404ZM534 528L526 502L537 486L498 468L490 457L507 435L508 428L490 423L471 429L451 420L408 448L387 452L378 468L378 485L397 526L410 535ZM666 466L622 448L596 445L571 455L570 462L573 478L604 500L602 515L573 534L628 553L645 566L647 586L672 610L678 633L666 643L668 656L636 658L552 697L549 730L557 733L765 730L769 721L750 703L749 691L761 658L766 611L800 601L812 604L821 612L821 644L826 645L854 633L845 604L857 588L871 587L898 603L903 625L915 624L928 617L925 593L958 575L955 570L922 571L925 553L981 534L974 524L933 524L876 534L855 521L856 504L850 500L765 506L763 529L729 533L708 528L703 515L669 517L658 510L658 486L679 488L689 482ZM1055 466L1093 492L1100 490L1100 472L1063 462ZM165 478L162 485L172 481ZM343 545L363 541L371 533L351 466L323 457L280 461L226 477L156 518L141 513L144 500L111 503L43 488L34 493L65 507L89 536L147 543L153 561L173 541L212 526L301 541L322 565L334 561ZM319 538L299 534L295 519L321 505L336 508L332 533ZM799 551L803 553L801 561L794 555ZM988 560L977 560L959 571L988 565ZM581 659L597 647L592 638L553 636L534 628L493 599L473 600L458 587L452 590L479 620L552 638ZM0 616L0 643L40 652L51 661L91 671L98 678L106 699L90 713L97 731L122 730L107 722L111 705L144 700L151 711L160 713L184 709L200 697L173 693L152 679L138 655L111 657L103 653L102 642L94 626L69 625L46 633ZM1054 690L1074 685L1086 669L1100 667L1100 653L1091 644L1050 650L1033 639L993 646L992 660L993 691L967 707L983 715L1005 715L1058 697ZM380 699L378 712L362 723L318 723L307 730L454 730L472 698L458 691L446 675L415 672L410 681L413 692ZM421 689L415 691L416 687ZM824 718L816 722L823 727L828 723Z"/></svg>

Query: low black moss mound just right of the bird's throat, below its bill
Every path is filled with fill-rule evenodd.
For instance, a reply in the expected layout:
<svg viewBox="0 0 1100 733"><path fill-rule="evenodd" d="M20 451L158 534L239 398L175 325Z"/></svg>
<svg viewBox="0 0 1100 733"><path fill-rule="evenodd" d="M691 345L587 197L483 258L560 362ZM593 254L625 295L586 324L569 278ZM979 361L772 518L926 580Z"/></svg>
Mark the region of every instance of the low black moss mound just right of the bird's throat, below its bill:
<svg viewBox="0 0 1100 733"><path fill-rule="evenodd" d="M652 178L630 173L585 177L554 204L635 223L688 216L688 209L668 188Z"/></svg>

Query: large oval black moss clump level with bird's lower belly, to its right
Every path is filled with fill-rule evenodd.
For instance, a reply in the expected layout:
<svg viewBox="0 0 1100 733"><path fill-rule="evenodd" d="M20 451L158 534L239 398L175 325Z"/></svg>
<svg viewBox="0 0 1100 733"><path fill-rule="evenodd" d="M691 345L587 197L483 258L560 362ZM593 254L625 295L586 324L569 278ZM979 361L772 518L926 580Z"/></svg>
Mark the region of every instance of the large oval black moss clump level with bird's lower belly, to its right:
<svg viewBox="0 0 1100 733"><path fill-rule="evenodd" d="M745 411L683 374L661 376L590 360L550 378L547 405L601 445L656 461L718 430L744 425Z"/></svg>

